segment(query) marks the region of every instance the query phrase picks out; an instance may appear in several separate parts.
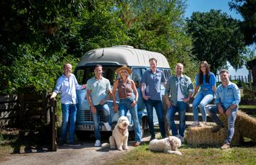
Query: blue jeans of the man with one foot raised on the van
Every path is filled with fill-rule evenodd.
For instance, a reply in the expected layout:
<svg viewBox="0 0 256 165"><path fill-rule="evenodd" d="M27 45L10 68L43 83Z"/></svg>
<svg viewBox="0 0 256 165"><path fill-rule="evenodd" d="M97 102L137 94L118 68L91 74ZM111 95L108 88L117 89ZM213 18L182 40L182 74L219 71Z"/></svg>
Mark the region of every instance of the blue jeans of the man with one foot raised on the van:
<svg viewBox="0 0 256 165"><path fill-rule="evenodd" d="M103 122L107 123L110 115L110 107L107 105L107 103L104 103L102 105L99 104L95 106L95 108L97 112L92 113L92 120L93 120L94 131L95 131L95 140L100 140L100 110L102 110L104 115Z"/></svg>

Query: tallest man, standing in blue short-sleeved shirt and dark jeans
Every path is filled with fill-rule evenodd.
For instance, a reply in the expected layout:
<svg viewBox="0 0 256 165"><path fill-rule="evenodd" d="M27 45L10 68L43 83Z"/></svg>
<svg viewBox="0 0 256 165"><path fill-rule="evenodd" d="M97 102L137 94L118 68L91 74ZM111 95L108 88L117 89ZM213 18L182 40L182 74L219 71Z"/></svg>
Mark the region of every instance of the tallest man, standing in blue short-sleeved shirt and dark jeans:
<svg viewBox="0 0 256 165"><path fill-rule="evenodd" d="M163 115L163 105L161 102L161 83L166 86L166 78L161 70L156 69L157 60L155 58L149 59L150 69L146 70L142 76L142 96L144 98L147 118L149 123L149 132L151 134L151 139L155 139L154 134L154 122L153 122L153 107L156 109L156 115L159 120L159 128L161 132L161 137L166 137L166 132L164 130L164 115ZM146 84L146 91L144 85Z"/></svg>

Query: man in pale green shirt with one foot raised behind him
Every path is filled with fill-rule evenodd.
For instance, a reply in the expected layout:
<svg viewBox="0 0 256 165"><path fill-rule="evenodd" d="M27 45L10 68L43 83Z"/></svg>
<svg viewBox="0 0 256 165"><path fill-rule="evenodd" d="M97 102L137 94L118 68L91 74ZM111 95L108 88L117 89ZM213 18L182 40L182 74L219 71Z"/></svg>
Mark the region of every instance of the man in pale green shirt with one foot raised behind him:
<svg viewBox="0 0 256 165"><path fill-rule="evenodd" d="M107 130L111 130L108 123L110 107L107 101L112 96L110 81L102 77L102 65L97 64L95 67L95 76L87 81L86 97L92 110L92 119L95 131L95 147L100 146L100 110L104 115L104 125Z"/></svg>

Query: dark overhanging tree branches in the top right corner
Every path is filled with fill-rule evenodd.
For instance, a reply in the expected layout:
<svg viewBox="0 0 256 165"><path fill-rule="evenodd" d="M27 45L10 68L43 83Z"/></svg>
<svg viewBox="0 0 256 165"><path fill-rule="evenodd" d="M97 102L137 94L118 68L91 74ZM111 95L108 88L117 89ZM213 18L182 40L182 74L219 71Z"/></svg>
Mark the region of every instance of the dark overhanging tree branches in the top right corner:
<svg viewBox="0 0 256 165"><path fill-rule="evenodd" d="M256 1L255 0L232 0L228 2L230 10L233 9L241 14L244 21L241 23L242 33L245 35L245 44L256 43Z"/></svg>

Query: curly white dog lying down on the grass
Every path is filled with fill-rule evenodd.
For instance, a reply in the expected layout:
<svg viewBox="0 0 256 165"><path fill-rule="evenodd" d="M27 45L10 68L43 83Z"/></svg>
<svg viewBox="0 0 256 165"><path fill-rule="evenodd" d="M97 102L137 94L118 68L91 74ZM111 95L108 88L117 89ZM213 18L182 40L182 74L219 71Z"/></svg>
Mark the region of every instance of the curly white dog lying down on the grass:
<svg viewBox="0 0 256 165"><path fill-rule="evenodd" d="M166 137L162 140L152 140L148 149L153 152L164 152L165 154L179 154L178 147L181 147L181 140L178 137Z"/></svg>

